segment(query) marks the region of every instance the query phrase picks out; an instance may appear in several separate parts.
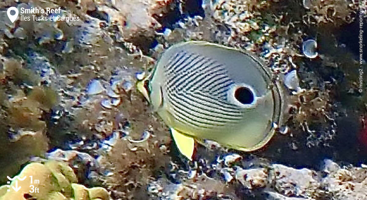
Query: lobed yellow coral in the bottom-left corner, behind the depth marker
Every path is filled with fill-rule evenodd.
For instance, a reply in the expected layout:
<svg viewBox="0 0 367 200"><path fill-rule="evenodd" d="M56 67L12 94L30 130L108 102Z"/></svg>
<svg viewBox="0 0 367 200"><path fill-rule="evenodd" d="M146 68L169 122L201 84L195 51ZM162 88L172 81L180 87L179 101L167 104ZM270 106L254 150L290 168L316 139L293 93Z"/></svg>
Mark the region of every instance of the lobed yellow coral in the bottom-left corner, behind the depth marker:
<svg viewBox="0 0 367 200"><path fill-rule="evenodd" d="M109 200L106 189L88 189L76 182L76 175L66 163L53 160L30 163L10 185L0 187L0 200Z"/></svg>

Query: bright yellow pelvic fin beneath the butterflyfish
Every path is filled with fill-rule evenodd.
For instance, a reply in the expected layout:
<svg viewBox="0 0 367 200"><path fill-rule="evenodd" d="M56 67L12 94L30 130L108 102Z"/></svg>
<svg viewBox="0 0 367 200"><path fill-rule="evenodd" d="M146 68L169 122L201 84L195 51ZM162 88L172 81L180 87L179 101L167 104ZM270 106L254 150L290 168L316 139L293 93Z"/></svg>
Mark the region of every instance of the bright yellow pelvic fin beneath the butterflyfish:
<svg viewBox="0 0 367 200"><path fill-rule="evenodd" d="M192 156L194 154L195 140L181 132L170 128L172 137L176 143L176 146L181 154L186 156L190 161L192 161Z"/></svg>

